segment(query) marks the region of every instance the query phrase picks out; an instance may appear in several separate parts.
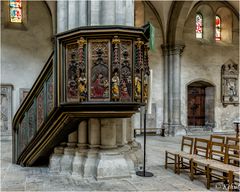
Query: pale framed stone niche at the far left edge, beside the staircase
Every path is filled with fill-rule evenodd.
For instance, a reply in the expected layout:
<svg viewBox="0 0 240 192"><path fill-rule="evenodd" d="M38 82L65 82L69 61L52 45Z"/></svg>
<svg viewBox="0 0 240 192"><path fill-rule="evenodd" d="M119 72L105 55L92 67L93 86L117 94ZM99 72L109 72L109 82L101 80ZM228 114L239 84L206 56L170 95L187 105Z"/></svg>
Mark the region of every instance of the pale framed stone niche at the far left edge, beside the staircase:
<svg viewBox="0 0 240 192"><path fill-rule="evenodd" d="M1 135L11 135L12 85L1 85Z"/></svg>

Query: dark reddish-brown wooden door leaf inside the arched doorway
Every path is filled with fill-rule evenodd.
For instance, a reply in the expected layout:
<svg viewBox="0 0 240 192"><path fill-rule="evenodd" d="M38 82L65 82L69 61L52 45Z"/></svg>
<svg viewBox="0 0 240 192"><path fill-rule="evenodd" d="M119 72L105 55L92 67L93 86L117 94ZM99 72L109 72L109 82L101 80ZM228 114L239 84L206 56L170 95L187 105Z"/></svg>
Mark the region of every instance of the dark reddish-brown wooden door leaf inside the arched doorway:
<svg viewBox="0 0 240 192"><path fill-rule="evenodd" d="M204 87L188 87L188 125L205 125Z"/></svg>

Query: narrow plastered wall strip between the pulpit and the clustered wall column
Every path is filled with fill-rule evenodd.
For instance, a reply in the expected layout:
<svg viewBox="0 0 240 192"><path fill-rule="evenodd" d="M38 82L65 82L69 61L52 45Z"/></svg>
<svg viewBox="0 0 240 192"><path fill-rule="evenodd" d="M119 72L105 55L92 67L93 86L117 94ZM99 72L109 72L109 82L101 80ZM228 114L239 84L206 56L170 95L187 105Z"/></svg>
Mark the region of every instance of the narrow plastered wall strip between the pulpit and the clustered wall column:
<svg viewBox="0 0 240 192"><path fill-rule="evenodd" d="M136 13L137 12L137 13ZM151 7L142 2L135 3L135 26L150 22L155 28L154 49L149 51L149 66L152 70L152 108L148 114L147 127L160 128L163 121L163 44L162 28ZM134 127L140 128L139 114L135 116Z"/></svg>

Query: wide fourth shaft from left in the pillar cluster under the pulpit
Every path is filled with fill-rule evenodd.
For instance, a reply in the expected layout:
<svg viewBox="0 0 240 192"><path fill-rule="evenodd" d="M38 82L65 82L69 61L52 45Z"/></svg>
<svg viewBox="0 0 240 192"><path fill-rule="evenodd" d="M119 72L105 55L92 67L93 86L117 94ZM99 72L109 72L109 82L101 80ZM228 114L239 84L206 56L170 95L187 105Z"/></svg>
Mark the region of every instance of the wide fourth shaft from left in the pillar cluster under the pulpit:
<svg viewBox="0 0 240 192"><path fill-rule="evenodd" d="M101 148L117 147L117 124L118 119L101 119Z"/></svg>

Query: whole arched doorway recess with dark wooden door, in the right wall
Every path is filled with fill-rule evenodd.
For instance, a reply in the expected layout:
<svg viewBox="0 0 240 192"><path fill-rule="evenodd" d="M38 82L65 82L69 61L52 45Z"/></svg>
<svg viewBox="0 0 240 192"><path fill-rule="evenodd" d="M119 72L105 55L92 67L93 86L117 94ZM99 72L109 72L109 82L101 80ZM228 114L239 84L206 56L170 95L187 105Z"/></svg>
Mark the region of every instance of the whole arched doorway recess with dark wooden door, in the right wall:
<svg viewBox="0 0 240 192"><path fill-rule="evenodd" d="M214 127L214 86L204 81L196 81L188 85L187 89L188 126Z"/></svg>

